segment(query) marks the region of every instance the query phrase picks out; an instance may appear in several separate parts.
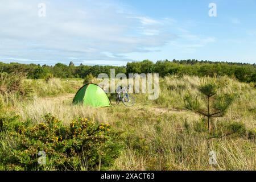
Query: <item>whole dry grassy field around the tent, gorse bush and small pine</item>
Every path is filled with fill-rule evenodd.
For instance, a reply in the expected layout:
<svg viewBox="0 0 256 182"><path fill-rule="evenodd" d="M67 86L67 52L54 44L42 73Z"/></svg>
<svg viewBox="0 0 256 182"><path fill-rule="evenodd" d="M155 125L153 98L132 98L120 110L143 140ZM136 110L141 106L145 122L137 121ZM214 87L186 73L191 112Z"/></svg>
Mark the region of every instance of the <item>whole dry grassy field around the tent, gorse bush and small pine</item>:
<svg viewBox="0 0 256 182"><path fill-rule="evenodd" d="M205 118L184 107L185 94L188 91L197 94L200 80L191 76L160 78L158 100L149 101L145 94L134 94L136 104L133 107L116 105L112 100L112 107L98 109L72 105L83 80L24 80L23 84L33 90L31 98L5 100L5 107L22 121L40 123L42 115L51 113L64 125L82 117L121 131L124 147L109 170L255 170L254 85L228 77L218 78L226 91L236 92L238 97L225 117L212 121L213 129L223 135L234 126L241 126L242 130L212 138ZM1 143L5 143L3 138ZM209 164L210 151L217 154L216 165Z"/></svg>

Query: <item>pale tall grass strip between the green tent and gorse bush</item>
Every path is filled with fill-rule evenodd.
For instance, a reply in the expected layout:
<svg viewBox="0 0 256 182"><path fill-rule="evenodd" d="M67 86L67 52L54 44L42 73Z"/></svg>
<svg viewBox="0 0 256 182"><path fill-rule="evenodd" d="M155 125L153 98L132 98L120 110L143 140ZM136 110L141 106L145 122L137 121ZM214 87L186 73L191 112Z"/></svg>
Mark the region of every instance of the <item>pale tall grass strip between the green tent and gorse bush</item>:
<svg viewBox="0 0 256 182"><path fill-rule="evenodd" d="M74 96L74 95L72 95ZM72 121L76 117L93 118L95 121L107 123L109 114L106 109L94 109L82 105L72 105L72 98L63 97L59 100L54 98L35 98L34 101L26 104L18 104L15 109L24 119L30 119L37 123L42 121L42 115L51 113L64 123Z"/></svg>

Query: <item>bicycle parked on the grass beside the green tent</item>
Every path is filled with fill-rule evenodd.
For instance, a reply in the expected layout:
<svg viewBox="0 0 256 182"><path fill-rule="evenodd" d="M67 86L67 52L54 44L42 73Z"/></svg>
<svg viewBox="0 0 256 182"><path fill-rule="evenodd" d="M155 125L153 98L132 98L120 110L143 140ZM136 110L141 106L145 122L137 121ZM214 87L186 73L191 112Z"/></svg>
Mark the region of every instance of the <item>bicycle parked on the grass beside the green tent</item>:
<svg viewBox="0 0 256 182"><path fill-rule="evenodd" d="M123 102L123 104L127 107L134 106L134 104L135 104L134 97L127 93L125 87L122 88L122 86L121 86L120 88L121 89L119 91L117 91L117 98L115 100L117 105L119 105L120 102ZM127 88L127 90L129 90L129 88ZM122 96L121 96L121 93L123 93Z"/></svg>

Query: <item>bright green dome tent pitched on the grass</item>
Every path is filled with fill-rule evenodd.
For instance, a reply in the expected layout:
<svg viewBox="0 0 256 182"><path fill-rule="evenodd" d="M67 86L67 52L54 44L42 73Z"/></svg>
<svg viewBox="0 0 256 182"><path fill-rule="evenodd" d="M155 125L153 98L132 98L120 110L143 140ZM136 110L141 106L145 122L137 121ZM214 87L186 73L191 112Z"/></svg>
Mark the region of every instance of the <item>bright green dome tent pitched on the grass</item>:
<svg viewBox="0 0 256 182"><path fill-rule="evenodd" d="M73 104L83 104L92 107L111 106L106 92L96 84L86 84L76 93Z"/></svg>

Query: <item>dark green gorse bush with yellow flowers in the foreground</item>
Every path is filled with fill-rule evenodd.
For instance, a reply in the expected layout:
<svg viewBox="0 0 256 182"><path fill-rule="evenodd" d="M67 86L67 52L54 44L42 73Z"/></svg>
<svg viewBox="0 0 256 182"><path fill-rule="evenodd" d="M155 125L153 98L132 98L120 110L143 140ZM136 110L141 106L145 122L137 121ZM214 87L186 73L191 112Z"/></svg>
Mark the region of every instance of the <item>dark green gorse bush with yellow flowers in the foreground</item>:
<svg viewBox="0 0 256 182"><path fill-rule="evenodd" d="M1 169L107 169L118 157L121 136L111 126L94 123L88 118L77 118L64 126L51 114L43 118L44 122L36 125L28 122L2 128ZM40 151L46 154L46 163L42 165L38 163L42 159Z"/></svg>

